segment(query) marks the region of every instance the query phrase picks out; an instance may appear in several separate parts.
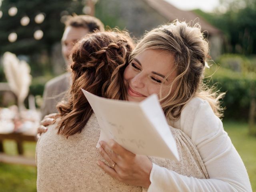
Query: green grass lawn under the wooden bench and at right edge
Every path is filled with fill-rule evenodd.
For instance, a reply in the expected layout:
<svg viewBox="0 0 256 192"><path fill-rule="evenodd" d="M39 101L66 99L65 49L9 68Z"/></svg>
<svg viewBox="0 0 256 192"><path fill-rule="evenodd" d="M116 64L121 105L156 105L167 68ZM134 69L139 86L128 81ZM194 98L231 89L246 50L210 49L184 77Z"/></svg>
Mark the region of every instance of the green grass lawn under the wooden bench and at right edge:
<svg viewBox="0 0 256 192"><path fill-rule="evenodd" d="M248 124L242 122L224 122L224 129L228 132L236 150L238 150L247 168L252 190L256 191L256 137L248 135ZM33 157L36 144L24 144L25 156ZM15 143L4 142L6 153L17 154ZM1 192L36 192L36 168L0 163L0 191Z"/></svg>

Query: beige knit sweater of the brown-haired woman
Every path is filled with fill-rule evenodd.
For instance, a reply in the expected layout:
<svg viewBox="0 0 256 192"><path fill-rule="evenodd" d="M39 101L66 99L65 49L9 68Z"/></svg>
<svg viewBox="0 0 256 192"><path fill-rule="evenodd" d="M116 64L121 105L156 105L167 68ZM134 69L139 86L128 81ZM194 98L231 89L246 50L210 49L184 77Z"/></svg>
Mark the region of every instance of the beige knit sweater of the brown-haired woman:
<svg viewBox="0 0 256 192"><path fill-rule="evenodd" d="M112 178L96 164L97 160L103 158L96 149L100 127L95 114L92 114L81 133L68 139L56 134L56 124L48 127L48 131L40 137L36 146L38 192L142 191L141 187L124 184ZM200 155L190 138L178 129L171 130L181 161L152 157L150 160L179 174L208 178Z"/></svg>

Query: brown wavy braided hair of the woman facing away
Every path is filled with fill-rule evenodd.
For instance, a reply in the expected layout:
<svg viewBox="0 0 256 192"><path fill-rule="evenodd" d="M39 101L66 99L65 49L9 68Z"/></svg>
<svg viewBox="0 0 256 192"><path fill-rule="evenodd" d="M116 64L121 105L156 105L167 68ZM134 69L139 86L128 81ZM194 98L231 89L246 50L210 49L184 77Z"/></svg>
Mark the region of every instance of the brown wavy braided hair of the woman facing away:
<svg viewBox="0 0 256 192"><path fill-rule="evenodd" d="M68 102L57 105L62 118L58 134L80 133L93 113L81 89L97 96L126 100L123 83L134 44L127 32L87 34L72 50L72 86Z"/></svg>

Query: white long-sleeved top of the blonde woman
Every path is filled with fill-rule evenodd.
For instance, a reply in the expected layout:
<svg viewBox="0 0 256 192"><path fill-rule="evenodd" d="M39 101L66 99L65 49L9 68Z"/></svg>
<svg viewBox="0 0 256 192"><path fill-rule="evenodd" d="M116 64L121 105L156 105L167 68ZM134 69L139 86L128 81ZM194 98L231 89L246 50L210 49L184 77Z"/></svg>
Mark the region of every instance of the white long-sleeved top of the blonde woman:
<svg viewBox="0 0 256 192"><path fill-rule="evenodd" d="M198 148L210 179L187 177L153 164L148 192L251 192L246 168L221 120L205 100L193 98L171 122Z"/></svg>

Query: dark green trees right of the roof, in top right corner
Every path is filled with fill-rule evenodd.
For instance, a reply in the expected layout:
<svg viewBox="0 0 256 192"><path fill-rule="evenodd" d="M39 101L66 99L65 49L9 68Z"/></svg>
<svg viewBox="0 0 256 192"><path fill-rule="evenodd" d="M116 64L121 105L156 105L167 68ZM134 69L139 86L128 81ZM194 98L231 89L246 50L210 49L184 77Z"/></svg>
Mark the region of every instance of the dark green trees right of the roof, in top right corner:
<svg viewBox="0 0 256 192"><path fill-rule="evenodd" d="M256 0L222 0L221 6L226 7L225 13L194 12L222 30L224 52L256 54Z"/></svg>

